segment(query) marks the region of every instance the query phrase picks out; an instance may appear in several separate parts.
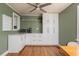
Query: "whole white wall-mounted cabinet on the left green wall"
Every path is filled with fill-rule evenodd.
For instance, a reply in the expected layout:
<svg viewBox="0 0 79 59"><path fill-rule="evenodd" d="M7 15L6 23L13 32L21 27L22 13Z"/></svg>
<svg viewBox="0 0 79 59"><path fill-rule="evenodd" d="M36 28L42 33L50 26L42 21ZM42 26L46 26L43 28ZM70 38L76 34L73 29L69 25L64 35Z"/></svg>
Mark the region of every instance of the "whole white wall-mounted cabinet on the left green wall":
<svg viewBox="0 0 79 59"><path fill-rule="evenodd" d="M2 30L17 31L20 29L20 16L13 12L13 17L2 15Z"/></svg>

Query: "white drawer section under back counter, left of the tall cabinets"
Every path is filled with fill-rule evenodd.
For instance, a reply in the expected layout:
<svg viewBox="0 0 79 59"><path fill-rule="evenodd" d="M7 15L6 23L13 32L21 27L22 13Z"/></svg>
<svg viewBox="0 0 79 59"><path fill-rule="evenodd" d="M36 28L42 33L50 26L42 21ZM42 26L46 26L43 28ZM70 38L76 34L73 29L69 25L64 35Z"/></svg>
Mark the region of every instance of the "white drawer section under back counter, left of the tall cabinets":
<svg viewBox="0 0 79 59"><path fill-rule="evenodd" d="M41 45L42 39L41 39L42 34L26 34L26 45Z"/></svg>

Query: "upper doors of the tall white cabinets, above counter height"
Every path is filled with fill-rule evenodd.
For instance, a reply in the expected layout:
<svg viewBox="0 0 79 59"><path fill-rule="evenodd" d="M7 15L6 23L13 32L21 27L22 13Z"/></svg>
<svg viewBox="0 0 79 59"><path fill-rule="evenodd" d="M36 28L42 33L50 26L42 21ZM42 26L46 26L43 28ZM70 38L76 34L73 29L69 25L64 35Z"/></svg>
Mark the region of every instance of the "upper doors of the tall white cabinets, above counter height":
<svg viewBox="0 0 79 59"><path fill-rule="evenodd" d="M58 34L58 13L43 14L43 33Z"/></svg>

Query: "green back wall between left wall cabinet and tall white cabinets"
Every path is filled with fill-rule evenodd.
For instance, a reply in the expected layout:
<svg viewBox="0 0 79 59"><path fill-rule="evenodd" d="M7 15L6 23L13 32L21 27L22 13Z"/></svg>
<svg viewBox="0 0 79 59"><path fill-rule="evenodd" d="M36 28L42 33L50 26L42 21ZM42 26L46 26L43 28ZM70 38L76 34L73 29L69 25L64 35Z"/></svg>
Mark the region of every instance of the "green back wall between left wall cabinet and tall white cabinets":
<svg viewBox="0 0 79 59"><path fill-rule="evenodd" d="M42 19L39 16L22 16L21 29L32 28L32 33L42 33ZM38 30L36 28L39 28Z"/></svg>

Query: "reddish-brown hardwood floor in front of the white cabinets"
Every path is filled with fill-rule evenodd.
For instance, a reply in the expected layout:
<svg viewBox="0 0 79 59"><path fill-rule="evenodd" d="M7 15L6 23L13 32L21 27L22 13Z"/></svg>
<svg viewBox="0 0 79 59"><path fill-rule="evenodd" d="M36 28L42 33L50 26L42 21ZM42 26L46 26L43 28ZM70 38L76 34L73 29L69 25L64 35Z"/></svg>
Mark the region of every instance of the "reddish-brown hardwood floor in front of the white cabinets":
<svg viewBox="0 0 79 59"><path fill-rule="evenodd" d="M7 56L61 56L56 46L26 46L20 53L8 53Z"/></svg>

